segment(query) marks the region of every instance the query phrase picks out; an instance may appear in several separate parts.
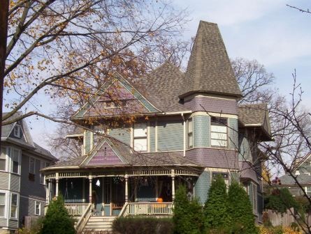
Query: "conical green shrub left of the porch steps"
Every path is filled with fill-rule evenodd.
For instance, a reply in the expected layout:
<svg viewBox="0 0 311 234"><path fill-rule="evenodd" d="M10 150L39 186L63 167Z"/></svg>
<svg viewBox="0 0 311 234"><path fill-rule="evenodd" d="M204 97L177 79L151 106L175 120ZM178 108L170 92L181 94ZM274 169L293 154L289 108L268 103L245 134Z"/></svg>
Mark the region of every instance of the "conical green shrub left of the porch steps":
<svg viewBox="0 0 311 234"><path fill-rule="evenodd" d="M64 207L62 196L53 199L43 219L41 234L74 234L74 221Z"/></svg>

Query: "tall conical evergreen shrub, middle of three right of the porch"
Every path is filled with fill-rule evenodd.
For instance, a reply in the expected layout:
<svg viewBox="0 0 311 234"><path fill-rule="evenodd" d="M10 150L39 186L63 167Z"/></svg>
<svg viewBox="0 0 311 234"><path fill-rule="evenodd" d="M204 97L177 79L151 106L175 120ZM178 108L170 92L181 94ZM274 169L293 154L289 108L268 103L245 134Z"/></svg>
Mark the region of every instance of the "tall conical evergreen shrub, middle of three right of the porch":
<svg viewBox="0 0 311 234"><path fill-rule="evenodd" d="M215 233L222 230L227 233L231 226L231 217L228 210L228 196L226 194L226 184L222 176L217 176L212 181L208 191L208 200L204 206L205 228L207 233Z"/></svg>

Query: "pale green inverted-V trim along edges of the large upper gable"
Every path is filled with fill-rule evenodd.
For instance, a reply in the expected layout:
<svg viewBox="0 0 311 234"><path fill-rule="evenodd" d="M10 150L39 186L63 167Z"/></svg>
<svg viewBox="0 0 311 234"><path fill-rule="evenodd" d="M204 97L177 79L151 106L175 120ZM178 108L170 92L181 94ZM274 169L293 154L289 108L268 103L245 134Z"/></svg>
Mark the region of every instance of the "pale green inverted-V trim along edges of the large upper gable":
<svg viewBox="0 0 311 234"><path fill-rule="evenodd" d="M101 96L105 94L106 91L108 91L108 88L112 87L116 82L118 82L120 86L122 86L122 88L124 88L127 92L131 93L131 95L133 95L134 98L136 98L136 100L138 100L138 102L142 104L147 111L161 112L159 109L154 107L154 105L149 102L140 92L138 92L137 89L129 83L129 81L126 81L122 75L115 72L113 74L113 78L114 79L110 81L106 81L103 86L101 86L101 88L96 91L92 98L90 98L88 102L86 102L80 109L78 109L78 111L71 117L71 119L75 120L84 118L87 111L89 111L89 109L94 106L94 104L101 98Z"/></svg>

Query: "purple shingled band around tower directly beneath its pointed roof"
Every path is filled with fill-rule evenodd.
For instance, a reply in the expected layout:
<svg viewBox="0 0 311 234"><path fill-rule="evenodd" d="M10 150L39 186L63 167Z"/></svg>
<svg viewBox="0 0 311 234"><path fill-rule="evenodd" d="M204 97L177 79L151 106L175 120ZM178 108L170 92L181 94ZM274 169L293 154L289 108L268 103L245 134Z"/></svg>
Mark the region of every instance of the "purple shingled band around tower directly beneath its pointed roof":
<svg viewBox="0 0 311 234"><path fill-rule="evenodd" d="M210 97L195 97L185 102L185 107L191 111L210 111L223 114L238 114L236 100L226 100Z"/></svg>

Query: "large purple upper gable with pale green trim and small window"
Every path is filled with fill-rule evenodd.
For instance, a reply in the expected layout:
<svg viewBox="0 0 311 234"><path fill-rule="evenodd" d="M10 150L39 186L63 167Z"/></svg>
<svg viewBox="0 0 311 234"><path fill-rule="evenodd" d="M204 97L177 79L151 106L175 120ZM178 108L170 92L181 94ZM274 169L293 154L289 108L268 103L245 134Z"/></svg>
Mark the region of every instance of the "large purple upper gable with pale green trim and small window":
<svg viewBox="0 0 311 234"><path fill-rule="evenodd" d="M116 72L113 79L106 81L72 119L150 112L159 112L159 109Z"/></svg>

